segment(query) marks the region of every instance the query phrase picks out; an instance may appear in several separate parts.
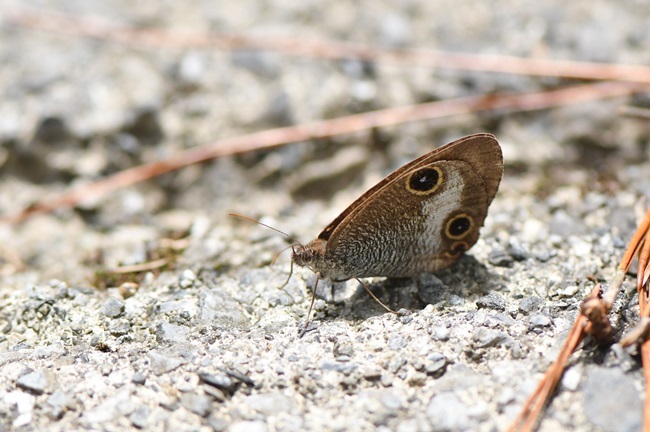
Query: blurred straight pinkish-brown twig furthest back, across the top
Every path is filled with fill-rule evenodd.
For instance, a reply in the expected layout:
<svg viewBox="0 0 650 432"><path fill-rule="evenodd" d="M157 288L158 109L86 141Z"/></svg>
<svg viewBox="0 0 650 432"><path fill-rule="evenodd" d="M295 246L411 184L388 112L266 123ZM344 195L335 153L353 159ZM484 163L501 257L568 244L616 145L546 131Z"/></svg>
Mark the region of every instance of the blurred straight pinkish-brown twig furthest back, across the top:
<svg viewBox="0 0 650 432"><path fill-rule="evenodd" d="M168 29L142 29L91 17L43 10L5 11L8 24L75 37L164 48L209 48L218 50L263 50L290 56L326 59L360 59L421 67L499 72L527 76L554 76L587 80L650 83L650 68L641 65L529 59L499 55L477 55L425 49L383 49L339 41L307 41L304 38L253 37L210 34Z"/></svg>

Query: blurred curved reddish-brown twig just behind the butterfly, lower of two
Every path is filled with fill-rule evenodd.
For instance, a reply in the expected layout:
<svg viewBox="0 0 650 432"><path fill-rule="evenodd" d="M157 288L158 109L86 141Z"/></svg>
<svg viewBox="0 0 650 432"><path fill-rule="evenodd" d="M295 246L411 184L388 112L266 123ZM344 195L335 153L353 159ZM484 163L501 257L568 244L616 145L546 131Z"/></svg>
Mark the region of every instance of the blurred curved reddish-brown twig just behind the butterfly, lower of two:
<svg viewBox="0 0 650 432"><path fill-rule="evenodd" d="M322 120L311 124L269 129L250 135L226 138L178 153L173 157L129 168L36 203L17 214L0 216L0 223L17 223L39 213L73 206L87 197L96 198L111 191L217 157L269 149L287 143L350 134L367 129L400 123L442 118L486 110L532 111L570 105L604 98L626 96L645 90L646 86L631 83L604 82L565 87L545 92L470 96L430 102L363 114Z"/></svg>

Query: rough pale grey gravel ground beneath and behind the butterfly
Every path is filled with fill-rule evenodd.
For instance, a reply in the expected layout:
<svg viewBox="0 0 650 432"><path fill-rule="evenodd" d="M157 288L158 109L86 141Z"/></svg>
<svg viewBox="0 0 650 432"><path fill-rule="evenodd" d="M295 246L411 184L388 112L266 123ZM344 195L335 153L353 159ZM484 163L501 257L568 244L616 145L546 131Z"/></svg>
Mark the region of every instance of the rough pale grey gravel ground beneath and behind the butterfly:
<svg viewBox="0 0 650 432"><path fill-rule="evenodd" d="M0 2L3 14L22 2ZM650 4L33 1L133 25L553 59L650 62ZM558 79L128 46L0 28L0 213L195 145ZM165 175L0 226L0 431L505 430L553 361L588 278L607 281L650 198L647 95L466 115L304 142ZM313 239L402 163L494 133L506 172L481 239L437 275L318 289ZM645 201L647 205L647 201ZM166 258L135 279L117 266ZM130 276L130 275L127 275ZM612 319L638 318L626 283ZM586 342L540 430L634 431L634 349Z"/></svg>

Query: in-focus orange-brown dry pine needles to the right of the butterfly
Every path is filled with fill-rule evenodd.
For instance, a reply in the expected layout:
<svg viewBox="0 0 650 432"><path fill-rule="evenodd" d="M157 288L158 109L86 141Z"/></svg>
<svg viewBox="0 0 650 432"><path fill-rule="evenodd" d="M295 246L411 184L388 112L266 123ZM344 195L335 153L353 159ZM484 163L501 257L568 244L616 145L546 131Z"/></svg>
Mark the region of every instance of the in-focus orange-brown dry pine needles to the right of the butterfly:
<svg viewBox="0 0 650 432"><path fill-rule="evenodd" d="M642 256L645 256L643 255L643 251L646 250L648 242L650 242L650 210L646 213L645 218L639 224L632 240L630 240L625 255L623 256L623 259L621 260L621 263L614 274L614 278L609 284L609 288L605 294L601 295L602 291L600 286L596 286L583 301L580 308L581 313L576 318L573 327L571 328L571 332L569 333L569 337L564 343L557 360L551 365L551 367L549 367L544 378L539 382L533 394L524 403L519 416L517 416L513 424L510 426L509 431L524 432L533 430L539 420L543 407L546 406L550 400L553 391L562 378L569 356L576 349L580 341L582 341L587 335L591 335L596 340L607 340L611 338L613 329L611 328L607 315L611 311L614 299L623 285L625 273L629 269L634 256L637 254L639 255L640 273L642 272L642 268L650 265L647 257L643 258L645 261L642 262ZM641 306L642 314L645 317L650 316L650 307L647 307L646 290L643 289L641 292L640 285L637 285L637 287L640 289L639 304ZM641 335L642 332L644 332L644 329L639 328L635 335ZM647 331L645 331L645 334L647 335ZM646 379L644 430L648 431L650 430L650 342L648 342L647 337L641 346L641 357Z"/></svg>

